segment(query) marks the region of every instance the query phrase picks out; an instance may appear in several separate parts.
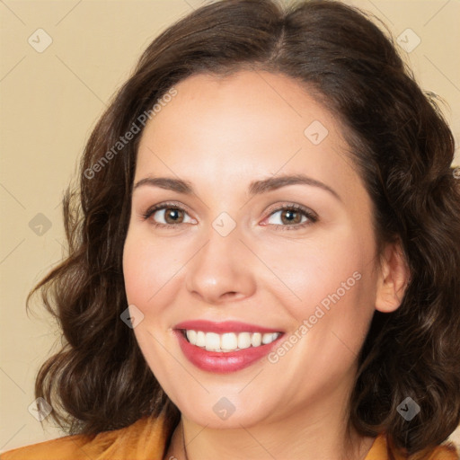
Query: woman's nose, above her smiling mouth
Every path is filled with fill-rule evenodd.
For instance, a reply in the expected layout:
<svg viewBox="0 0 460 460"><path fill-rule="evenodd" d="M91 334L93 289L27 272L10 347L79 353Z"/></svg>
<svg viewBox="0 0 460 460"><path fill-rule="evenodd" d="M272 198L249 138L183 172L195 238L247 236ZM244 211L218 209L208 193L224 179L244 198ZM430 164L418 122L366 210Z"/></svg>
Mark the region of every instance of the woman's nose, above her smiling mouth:
<svg viewBox="0 0 460 460"><path fill-rule="evenodd" d="M256 289L255 256L240 241L238 227L222 236L210 226L208 241L186 265L190 294L212 305L252 296Z"/></svg>

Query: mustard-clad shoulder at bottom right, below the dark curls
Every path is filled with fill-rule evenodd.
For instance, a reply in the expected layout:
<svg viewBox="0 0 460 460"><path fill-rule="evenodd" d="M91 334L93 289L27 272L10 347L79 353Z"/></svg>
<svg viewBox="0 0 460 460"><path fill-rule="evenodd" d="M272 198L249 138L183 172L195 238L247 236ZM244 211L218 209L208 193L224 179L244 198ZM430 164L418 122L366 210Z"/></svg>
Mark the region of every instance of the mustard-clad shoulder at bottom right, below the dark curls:
<svg viewBox="0 0 460 460"><path fill-rule="evenodd" d="M394 460L460 460L458 451L452 443L443 444L430 450L425 456L408 456L402 451L392 452ZM374 440L365 460L389 460L388 443L385 433L381 433Z"/></svg>

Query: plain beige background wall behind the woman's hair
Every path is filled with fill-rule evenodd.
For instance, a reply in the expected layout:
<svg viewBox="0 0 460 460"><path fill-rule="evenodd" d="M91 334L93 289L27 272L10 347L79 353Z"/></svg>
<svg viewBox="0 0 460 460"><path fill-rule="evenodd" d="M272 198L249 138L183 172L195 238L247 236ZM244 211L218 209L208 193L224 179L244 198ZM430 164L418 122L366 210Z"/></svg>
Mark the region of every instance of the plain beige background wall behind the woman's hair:
<svg viewBox="0 0 460 460"><path fill-rule="evenodd" d="M147 44L199 4L198 0L0 1L4 318L0 326L0 451L62 434L52 426L43 431L28 411L34 400L35 373L58 334L40 308L34 309L36 316L26 315L25 297L61 258L61 195L105 103ZM349 4L375 13L394 36L410 28L420 37L420 45L403 55L421 86L447 101L447 119L458 141L460 3L356 0ZM52 39L41 53L28 42L38 29ZM413 45L417 38L405 34L403 39L407 36ZM40 43L44 42L41 35ZM33 218L32 222L45 222L41 235L29 225ZM456 440L460 442L460 436Z"/></svg>

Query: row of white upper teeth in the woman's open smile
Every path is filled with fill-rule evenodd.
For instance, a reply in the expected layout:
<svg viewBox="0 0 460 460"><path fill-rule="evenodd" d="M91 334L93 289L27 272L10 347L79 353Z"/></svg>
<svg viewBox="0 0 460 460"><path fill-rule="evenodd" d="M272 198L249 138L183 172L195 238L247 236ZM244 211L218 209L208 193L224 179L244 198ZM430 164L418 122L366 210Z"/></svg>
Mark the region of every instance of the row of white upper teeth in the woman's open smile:
<svg viewBox="0 0 460 460"><path fill-rule="evenodd" d="M260 347L276 341L281 332L226 332L217 334L215 332L202 332L187 330L187 340L192 345L207 349L208 351L234 351L248 349L249 347Z"/></svg>

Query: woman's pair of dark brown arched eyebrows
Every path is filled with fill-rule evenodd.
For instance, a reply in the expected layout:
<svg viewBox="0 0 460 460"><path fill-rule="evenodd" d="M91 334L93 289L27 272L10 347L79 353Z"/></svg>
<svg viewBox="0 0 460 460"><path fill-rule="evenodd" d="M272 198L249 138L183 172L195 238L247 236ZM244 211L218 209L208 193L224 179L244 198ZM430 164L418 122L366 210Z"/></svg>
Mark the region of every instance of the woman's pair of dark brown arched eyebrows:
<svg viewBox="0 0 460 460"><path fill-rule="evenodd" d="M316 181L311 177L305 176L304 174L280 175L276 177L269 177L268 179L262 179L261 181L252 181L249 185L248 191L250 196L253 196L266 193L267 191L277 190L281 187L287 187L288 185L297 184L310 185L326 190L331 193L333 197L341 201L341 196L331 187L321 181ZM195 193L190 181L182 181L181 179L175 179L173 177L146 177L137 181L133 191L145 185L159 187L164 190L173 190L185 195L193 195Z"/></svg>

